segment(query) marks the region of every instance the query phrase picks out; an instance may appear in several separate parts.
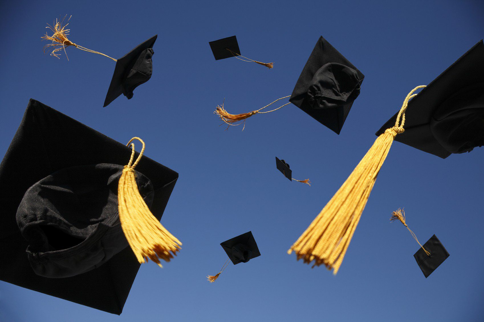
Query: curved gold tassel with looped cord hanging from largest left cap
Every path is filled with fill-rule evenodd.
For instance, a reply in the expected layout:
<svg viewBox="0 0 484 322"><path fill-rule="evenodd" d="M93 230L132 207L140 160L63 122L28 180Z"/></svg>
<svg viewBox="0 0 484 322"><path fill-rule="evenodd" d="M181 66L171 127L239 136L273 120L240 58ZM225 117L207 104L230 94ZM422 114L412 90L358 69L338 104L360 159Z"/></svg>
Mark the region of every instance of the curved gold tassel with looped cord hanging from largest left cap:
<svg viewBox="0 0 484 322"><path fill-rule="evenodd" d="M139 137L129 140L138 140L143 145L138 158L135 157L135 145L131 144L131 158L124 166L118 185L118 209L121 228L133 249L139 263L151 261L163 267L160 259L169 262L176 252L180 251L181 242L157 220L143 201L136 185L135 167L143 156L145 143Z"/></svg>

